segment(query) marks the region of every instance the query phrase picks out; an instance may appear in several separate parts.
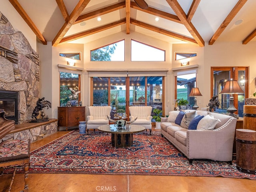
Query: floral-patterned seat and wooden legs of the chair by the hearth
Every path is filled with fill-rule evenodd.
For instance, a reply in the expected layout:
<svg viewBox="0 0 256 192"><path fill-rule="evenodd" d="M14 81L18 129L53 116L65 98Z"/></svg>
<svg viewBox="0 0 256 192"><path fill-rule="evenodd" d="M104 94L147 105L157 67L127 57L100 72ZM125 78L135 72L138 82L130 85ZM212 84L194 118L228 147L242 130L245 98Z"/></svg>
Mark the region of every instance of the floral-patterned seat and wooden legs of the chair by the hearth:
<svg viewBox="0 0 256 192"><path fill-rule="evenodd" d="M12 179L10 182L10 187L8 192L11 191L12 183L14 181L14 176L16 172L16 166L24 166L24 190L23 192L28 192L28 168L30 160L30 139L26 140L6 140L0 143L0 167L1 171L4 170L3 167L15 166L14 173L12 174Z"/></svg>

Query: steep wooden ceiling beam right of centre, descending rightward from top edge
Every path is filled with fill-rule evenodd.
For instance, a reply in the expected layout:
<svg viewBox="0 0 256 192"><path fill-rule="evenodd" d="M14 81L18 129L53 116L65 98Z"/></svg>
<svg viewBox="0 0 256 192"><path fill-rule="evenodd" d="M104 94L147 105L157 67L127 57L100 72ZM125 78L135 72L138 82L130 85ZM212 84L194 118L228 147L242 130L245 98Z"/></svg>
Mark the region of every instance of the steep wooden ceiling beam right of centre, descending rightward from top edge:
<svg viewBox="0 0 256 192"><path fill-rule="evenodd" d="M176 13L178 18L180 18L181 22L184 24L184 26L187 28L187 30L190 32L190 34L193 36L193 38L196 40L197 44L200 47L204 46L204 40L196 30L196 28L193 26L191 22L187 20L186 13L180 6L177 0L166 0L166 2L170 5L172 10Z"/></svg>

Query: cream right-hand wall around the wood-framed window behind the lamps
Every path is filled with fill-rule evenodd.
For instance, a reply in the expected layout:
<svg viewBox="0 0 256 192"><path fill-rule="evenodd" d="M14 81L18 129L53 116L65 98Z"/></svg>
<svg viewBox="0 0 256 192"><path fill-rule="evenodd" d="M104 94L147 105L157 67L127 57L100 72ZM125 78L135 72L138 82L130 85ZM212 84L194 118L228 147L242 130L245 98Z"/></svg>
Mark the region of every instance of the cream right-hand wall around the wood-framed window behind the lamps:
<svg viewBox="0 0 256 192"><path fill-rule="evenodd" d="M198 58L191 58L191 64L199 64L197 87L202 96L197 97L199 108L206 107L210 100L210 68L212 66L249 66L249 96L255 92L256 42L243 45L242 42L218 42L204 47L189 44L174 44L174 52L198 52ZM174 67L179 64L172 60Z"/></svg>

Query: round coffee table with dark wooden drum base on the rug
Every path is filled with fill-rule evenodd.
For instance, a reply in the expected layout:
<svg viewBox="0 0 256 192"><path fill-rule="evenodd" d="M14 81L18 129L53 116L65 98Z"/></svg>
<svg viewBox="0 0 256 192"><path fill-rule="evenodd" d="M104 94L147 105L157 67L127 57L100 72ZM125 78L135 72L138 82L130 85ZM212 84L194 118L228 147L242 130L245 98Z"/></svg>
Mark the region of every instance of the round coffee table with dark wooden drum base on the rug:
<svg viewBox="0 0 256 192"><path fill-rule="evenodd" d="M111 144L114 147L130 147L133 144L133 134L145 130L143 126L126 125L124 129L118 129L116 124L102 125L99 131L111 133Z"/></svg>

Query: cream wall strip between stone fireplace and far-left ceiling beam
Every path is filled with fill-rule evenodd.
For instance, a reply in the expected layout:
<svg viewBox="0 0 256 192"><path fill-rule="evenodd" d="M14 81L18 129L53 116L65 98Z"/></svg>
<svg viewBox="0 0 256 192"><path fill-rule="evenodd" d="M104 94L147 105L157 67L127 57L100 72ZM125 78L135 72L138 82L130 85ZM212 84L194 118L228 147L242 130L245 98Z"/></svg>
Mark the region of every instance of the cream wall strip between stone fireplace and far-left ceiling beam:
<svg viewBox="0 0 256 192"><path fill-rule="evenodd" d="M32 49L37 52L36 35L8 0L1 0L0 12L6 16L15 31L20 31L24 34Z"/></svg>

